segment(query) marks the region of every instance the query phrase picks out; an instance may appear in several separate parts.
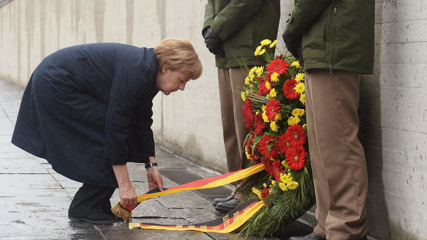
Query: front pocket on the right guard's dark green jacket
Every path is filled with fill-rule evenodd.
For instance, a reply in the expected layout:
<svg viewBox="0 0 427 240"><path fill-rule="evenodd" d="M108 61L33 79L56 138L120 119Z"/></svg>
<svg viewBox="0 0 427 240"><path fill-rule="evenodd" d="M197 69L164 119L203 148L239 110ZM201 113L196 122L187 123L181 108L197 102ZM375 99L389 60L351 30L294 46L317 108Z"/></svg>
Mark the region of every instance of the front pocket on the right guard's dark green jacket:
<svg viewBox="0 0 427 240"><path fill-rule="evenodd" d="M325 58L325 26L328 18L320 17L302 36L304 59Z"/></svg>

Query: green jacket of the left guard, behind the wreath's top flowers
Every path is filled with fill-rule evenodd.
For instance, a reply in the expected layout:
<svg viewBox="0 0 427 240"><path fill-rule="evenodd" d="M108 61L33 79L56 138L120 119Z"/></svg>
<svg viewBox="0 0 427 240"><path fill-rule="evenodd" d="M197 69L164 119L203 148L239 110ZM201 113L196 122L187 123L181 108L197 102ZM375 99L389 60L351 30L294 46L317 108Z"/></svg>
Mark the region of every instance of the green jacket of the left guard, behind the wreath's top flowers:
<svg viewBox="0 0 427 240"><path fill-rule="evenodd" d="M266 64L263 56L254 56L255 48L277 38L279 19L280 0L208 0L202 33L211 27L225 50L224 58L215 56L216 67Z"/></svg>

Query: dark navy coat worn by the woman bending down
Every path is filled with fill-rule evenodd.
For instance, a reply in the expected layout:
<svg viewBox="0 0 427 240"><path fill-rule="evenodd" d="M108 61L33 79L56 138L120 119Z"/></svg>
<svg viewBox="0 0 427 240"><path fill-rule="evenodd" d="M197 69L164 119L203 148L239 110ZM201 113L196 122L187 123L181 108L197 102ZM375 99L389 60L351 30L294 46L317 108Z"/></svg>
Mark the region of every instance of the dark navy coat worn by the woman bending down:
<svg viewBox="0 0 427 240"><path fill-rule="evenodd" d="M111 164L155 156L153 48L97 43L67 47L38 65L23 94L12 143L53 170L117 187Z"/></svg>

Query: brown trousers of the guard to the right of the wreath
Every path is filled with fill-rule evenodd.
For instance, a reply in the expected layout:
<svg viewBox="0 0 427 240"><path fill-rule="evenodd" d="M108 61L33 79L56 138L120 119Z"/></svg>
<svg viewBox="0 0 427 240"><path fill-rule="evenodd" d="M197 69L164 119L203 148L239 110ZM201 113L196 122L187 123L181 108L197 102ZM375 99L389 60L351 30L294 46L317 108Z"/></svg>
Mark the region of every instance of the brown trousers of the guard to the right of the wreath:
<svg viewBox="0 0 427 240"><path fill-rule="evenodd" d="M359 74L306 71L306 114L316 192L314 232L328 240L359 240L366 233L368 174L357 138Z"/></svg>

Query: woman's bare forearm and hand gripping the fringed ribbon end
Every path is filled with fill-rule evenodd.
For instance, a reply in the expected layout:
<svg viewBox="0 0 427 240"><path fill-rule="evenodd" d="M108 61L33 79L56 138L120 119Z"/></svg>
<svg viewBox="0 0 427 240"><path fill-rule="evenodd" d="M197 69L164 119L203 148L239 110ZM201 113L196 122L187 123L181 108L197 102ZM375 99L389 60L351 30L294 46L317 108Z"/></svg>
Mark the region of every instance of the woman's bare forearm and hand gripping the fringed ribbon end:
<svg viewBox="0 0 427 240"><path fill-rule="evenodd" d="M129 179L128 168L126 164L114 165L114 175L116 175L117 184L119 184L120 204L127 206L136 206L138 204L135 188Z"/></svg>

